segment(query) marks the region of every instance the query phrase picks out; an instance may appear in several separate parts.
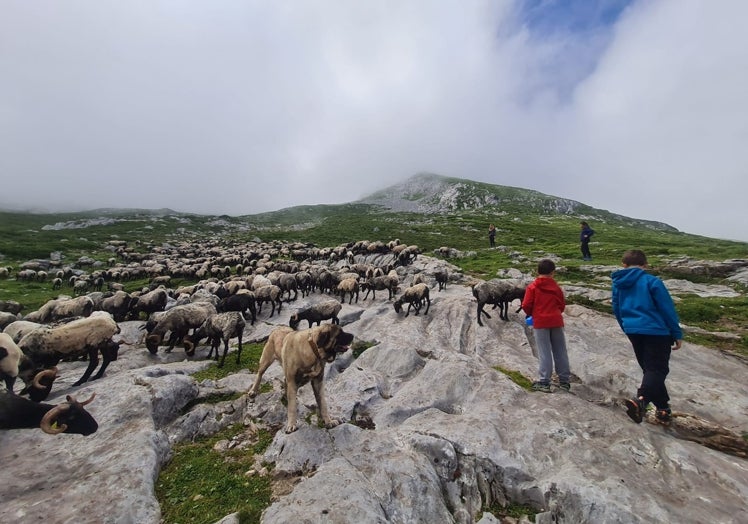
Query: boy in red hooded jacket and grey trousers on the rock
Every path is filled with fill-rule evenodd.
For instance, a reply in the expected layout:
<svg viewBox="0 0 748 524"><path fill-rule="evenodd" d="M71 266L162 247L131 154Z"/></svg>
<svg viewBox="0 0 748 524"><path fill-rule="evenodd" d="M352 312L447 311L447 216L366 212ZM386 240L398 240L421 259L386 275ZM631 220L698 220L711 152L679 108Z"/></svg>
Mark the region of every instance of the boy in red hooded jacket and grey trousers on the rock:
<svg viewBox="0 0 748 524"><path fill-rule="evenodd" d="M556 264L547 258L538 262L538 278L525 292L522 309L532 317L535 342L538 346L538 381L533 382L535 391L551 392L551 374L555 364L559 387L566 391L571 389L569 383L569 356L566 354L566 335L564 318L566 308L564 292L553 279Z"/></svg>

